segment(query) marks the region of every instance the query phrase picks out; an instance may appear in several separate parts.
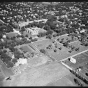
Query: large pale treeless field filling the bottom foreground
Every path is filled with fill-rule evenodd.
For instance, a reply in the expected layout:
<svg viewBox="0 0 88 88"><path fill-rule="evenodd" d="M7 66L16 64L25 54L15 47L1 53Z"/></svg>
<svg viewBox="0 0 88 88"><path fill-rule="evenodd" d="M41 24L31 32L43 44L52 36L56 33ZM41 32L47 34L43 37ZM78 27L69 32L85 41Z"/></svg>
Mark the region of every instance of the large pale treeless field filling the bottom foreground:
<svg viewBox="0 0 88 88"><path fill-rule="evenodd" d="M57 81L70 72L60 63L51 63L35 68L27 68L25 71L17 75L13 81L5 82L10 86L44 86L50 82Z"/></svg>

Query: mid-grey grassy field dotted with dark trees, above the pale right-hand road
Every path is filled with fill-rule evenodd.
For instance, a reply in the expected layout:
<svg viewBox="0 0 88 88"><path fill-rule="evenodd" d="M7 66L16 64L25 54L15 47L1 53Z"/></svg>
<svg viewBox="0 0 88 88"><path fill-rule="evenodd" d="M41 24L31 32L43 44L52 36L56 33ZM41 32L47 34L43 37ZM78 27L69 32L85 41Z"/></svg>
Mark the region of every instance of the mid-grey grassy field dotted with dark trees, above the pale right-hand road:
<svg viewBox="0 0 88 88"><path fill-rule="evenodd" d="M57 43L57 48L55 48L55 44ZM57 61L60 61L64 58L67 58L69 56L75 55L79 52L82 52L86 49L88 49L88 47L82 46L80 45L79 41L74 41L72 43L70 43L70 45L75 46L76 48L79 47L79 51L72 51L71 53L69 53L68 51L70 50L70 48L66 48L64 47L61 43L59 42L55 42L52 43L51 40L42 40L42 41L37 41L35 43L33 43L35 46L37 46L37 48L40 49L45 49L47 54L49 54L52 58L54 58ZM49 45L51 45L51 49L46 49L46 47L48 47ZM59 50L59 48L61 47L61 50ZM54 52L54 50L56 50L56 52Z"/></svg>

